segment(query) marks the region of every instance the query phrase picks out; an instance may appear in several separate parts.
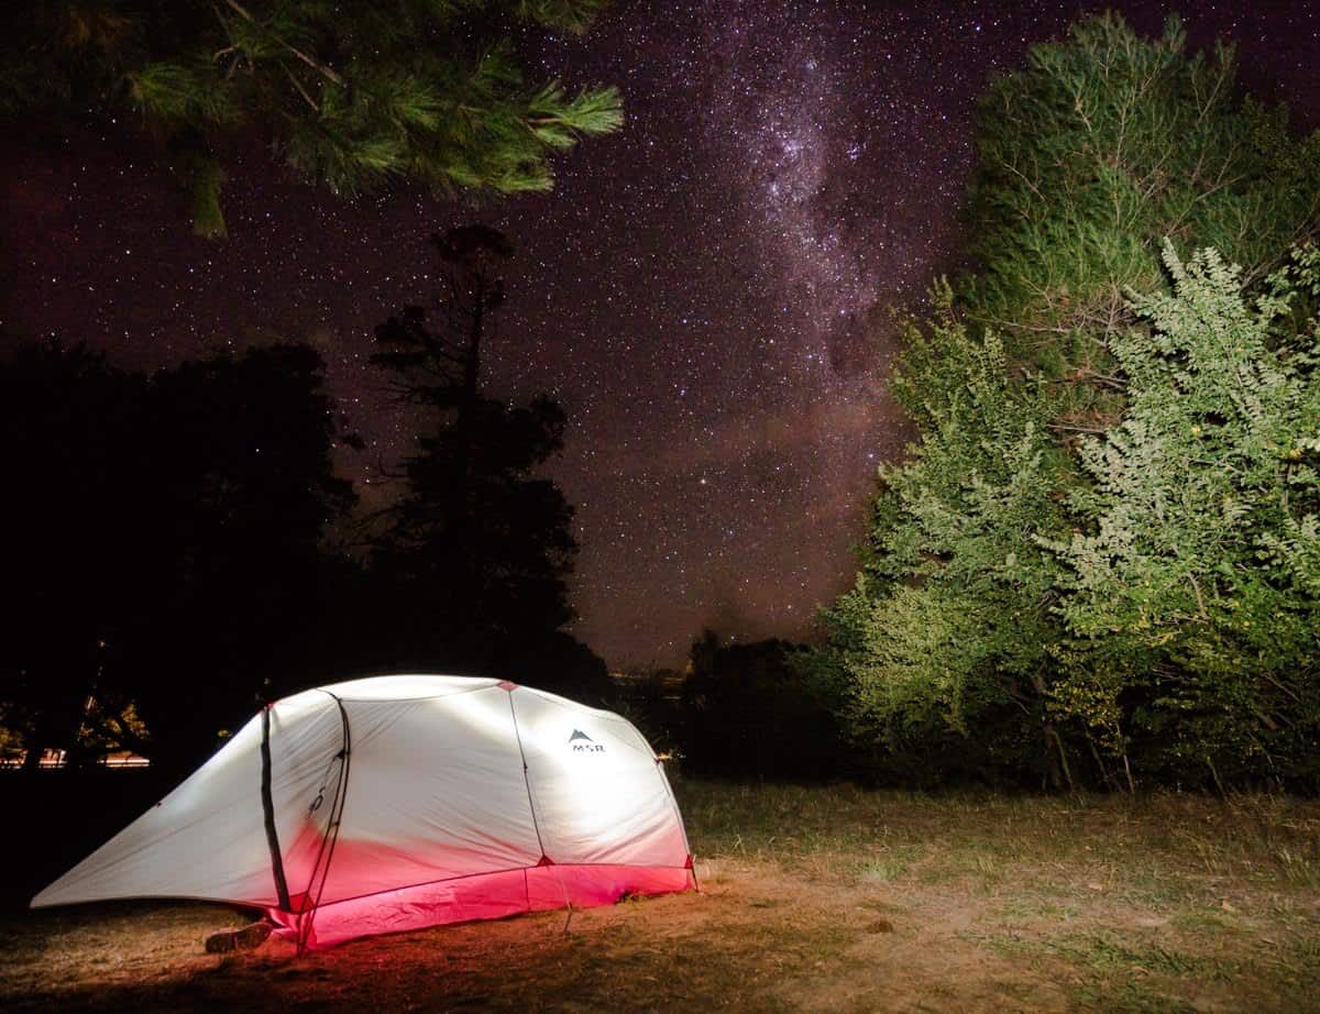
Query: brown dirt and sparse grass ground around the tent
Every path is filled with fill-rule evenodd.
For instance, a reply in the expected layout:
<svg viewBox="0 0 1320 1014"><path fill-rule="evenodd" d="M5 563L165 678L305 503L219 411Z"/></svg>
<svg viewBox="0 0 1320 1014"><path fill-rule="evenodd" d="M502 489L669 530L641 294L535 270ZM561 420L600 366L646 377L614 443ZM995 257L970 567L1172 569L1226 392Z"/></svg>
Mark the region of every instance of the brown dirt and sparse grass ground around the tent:
<svg viewBox="0 0 1320 1014"><path fill-rule="evenodd" d="M1320 803L680 783L700 894L216 957L231 908L0 920L8 1010L1320 1010Z"/></svg>

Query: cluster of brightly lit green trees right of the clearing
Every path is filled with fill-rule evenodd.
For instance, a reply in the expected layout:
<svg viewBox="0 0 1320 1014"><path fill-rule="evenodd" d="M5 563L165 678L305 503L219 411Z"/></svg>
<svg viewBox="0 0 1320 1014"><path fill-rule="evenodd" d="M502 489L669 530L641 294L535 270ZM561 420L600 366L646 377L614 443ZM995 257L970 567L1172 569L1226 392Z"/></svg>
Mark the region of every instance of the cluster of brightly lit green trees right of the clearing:
<svg viewBox="0 0 1320 1014"><path fill-rule="evenodd" d="M1241 98L1230 49L1113 15L1035 46L979 127L975 268L906 330L919 438L807 672L861 746L946 771L1313 772L1320 272L1287 257L1320 132ZM1172 293L1170 239L1218 248L1170 259Z"/></svg>

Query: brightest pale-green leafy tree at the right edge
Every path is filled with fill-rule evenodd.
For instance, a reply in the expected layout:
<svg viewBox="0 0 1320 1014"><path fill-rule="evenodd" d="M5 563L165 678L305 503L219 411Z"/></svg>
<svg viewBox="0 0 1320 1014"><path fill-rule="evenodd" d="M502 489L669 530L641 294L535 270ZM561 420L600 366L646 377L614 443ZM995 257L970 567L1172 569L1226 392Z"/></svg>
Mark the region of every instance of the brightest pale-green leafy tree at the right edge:
<svg viewBox="0 0 1320 1014"><path fill-rule="evenodd" d="M1114 337L1122 421L1081 453L1093 483L1068 566L1059 706L1115 755L1159 745L1181 776L1320 772L1320 288L1311 247L1258 308L1213 251Z"/></svg>

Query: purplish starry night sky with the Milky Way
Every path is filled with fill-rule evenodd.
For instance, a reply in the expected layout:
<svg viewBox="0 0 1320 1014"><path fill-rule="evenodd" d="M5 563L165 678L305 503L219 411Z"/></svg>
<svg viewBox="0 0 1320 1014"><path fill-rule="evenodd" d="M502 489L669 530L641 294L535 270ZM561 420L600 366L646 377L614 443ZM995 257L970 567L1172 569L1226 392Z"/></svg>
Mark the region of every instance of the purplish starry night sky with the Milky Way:
<svg viewBox="0 0 1320 1014"><path fill-rule="evenodd" d="M1159 32L1162 7L1111 5ZM1313 125L1320 5L1241 7L1185 5L1193 44L1234 38L1243 82ZM552 475L577 504L577 635L614 665L676 663L704 625L803 636L908 436L886 308L957 264L973 103L1086 9L620 3L586 40L527 42L545 77L618 84L628 118L552 194L345 203L239 143L220 243L114 131L26 140L0 156L4 323L131 367L312 342L368 445L342 467L379 506L413 430L372 327L430 296L430 232L495 224L519 254L486 379L569 413Z"/></svg>

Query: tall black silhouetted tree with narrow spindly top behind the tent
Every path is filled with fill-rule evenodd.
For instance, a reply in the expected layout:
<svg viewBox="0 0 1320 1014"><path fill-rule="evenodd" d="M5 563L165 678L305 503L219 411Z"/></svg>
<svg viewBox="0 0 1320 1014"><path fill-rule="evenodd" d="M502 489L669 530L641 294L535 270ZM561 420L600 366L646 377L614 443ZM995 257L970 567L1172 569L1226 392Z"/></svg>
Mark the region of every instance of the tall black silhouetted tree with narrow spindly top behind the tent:
<svg viewBox="0 0 1320 1014"><path fill-rule="evenodd" d="M425 420L372 562L393 588L385 625L397 631L395 651L408 656L397 660L483 672L533 664L552 681L564 668L602 693L603 664L583 668L576 642L558 630L573 615L573 508L537 474L564 445L564 411L544 395L525 405L494 399L482 378L512 248L483 226L433 240L442 265L438 327L409 306L378 329L374 356Z"/></svg>

